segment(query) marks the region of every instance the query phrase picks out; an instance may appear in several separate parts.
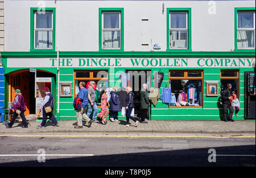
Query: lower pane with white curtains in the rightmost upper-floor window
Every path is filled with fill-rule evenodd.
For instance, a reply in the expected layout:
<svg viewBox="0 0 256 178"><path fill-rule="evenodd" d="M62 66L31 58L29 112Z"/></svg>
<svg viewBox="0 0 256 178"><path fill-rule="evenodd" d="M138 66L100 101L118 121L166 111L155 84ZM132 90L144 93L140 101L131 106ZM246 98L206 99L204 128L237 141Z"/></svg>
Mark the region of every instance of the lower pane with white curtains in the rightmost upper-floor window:
<svg viewBox="0 0 256 178"><path fill-rule="evenodd" d="M254 31L237 31L238 48L254 48Z"/></svg>

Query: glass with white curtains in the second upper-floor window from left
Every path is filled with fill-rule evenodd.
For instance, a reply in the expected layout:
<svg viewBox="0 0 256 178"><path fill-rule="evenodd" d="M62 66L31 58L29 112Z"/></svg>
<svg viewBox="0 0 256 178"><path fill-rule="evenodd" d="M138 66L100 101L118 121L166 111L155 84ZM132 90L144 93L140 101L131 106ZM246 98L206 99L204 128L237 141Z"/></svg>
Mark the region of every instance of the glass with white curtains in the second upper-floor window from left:
<svg viewBox="0 0 256 178"><path fill-rule="evenodd" d="M119 28L119 14L104 14L104 29ZM104 48L120 48L120 31L104 31Z"/></svg>

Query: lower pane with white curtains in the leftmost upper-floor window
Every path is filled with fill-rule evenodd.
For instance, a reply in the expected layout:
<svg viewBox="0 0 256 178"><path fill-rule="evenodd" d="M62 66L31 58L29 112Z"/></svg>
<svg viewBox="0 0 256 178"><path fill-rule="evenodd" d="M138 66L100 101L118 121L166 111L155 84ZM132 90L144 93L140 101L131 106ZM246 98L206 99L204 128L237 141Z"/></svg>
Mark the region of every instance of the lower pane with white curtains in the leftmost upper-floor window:
<svg viewBox="0 0 256 178"><path fill-rule="evenodd" d="M52 48L52 31L36 31L35 48Z"/></svg>

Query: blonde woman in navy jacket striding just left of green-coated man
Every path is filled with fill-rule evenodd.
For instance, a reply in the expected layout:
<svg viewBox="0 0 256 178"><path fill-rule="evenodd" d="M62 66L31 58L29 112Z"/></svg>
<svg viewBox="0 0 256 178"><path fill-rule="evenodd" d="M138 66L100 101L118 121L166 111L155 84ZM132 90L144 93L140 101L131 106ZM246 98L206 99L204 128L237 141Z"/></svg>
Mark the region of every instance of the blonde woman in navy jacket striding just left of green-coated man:
<svg viewBox="0 0 256 178"><path fill-rule="evenodd" d="M129 127L129 119L133 120L135 122L135 127L137 127L139 121L137 121L136 119L131 117L131 112L134 109L134 103L133 103L134 94L133 94L130 86L126 87L126 92L127 92L127 96L125 99L125 102L126 102L126 107L125 107L125 109L126 109L126 125L123 127Z"/></svg>

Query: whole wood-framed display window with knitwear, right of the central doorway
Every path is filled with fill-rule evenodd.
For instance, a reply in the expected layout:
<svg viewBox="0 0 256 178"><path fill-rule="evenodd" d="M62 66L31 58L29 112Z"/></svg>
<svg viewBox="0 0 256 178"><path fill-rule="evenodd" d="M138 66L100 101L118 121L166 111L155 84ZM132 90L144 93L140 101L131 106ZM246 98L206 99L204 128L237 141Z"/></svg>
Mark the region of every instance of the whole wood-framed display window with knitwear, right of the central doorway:
<svg viewBox="0 0 256 178"><path fill-rule="evenodd" d="M202 107L203 76L203 71L171 70L169 85L172 100L169 107Z"/></svg>

